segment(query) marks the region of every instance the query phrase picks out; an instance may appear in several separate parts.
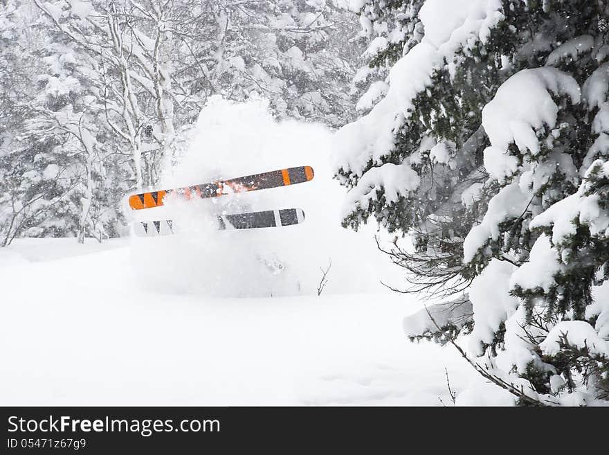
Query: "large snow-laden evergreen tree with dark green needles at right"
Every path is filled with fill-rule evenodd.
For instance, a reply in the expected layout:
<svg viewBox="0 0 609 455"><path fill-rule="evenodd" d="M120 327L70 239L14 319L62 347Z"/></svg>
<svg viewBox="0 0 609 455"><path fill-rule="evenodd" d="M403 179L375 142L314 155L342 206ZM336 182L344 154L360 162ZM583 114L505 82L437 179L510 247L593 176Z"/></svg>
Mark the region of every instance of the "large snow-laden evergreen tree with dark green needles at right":
<svg viewBox="0 0 609 455"><path fill-rule="evenodd" d="M388 251L412 291L468 289L452 315L430 312L422 331L416 316L406 331L471 331L470 350L484 357L475 368L521 404L608 398L607 8L427 0L360 10L403 56L378 47L372 64L394 62L388 91L338 134L345 225L373 215L412 235L412 248ZM387 21L406 10L421 24Z"/></svg>

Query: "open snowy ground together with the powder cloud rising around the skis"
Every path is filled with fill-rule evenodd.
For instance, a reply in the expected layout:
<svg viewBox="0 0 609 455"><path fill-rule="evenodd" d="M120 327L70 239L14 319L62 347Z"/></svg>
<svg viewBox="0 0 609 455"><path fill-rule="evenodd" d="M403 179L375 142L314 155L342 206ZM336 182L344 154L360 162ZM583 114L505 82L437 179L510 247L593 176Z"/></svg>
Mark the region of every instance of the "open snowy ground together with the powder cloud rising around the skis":
<svg viewBox="0 0 609 455"><path fill-rule="evenodd" d="M275 121L264 100L212 98L191 136L163 187L305 165L315 178L126 211L170 218L175 235L0 249L0 404L442 405L445 368L453 391L480 383L451 346L408 341L403 317L422 303L381 285L405 284L376 248L386 233L340 226L327 128ZM225 211L289 207L305 223L215 224ZM464 402L489 404L469 390Z"/></svg>

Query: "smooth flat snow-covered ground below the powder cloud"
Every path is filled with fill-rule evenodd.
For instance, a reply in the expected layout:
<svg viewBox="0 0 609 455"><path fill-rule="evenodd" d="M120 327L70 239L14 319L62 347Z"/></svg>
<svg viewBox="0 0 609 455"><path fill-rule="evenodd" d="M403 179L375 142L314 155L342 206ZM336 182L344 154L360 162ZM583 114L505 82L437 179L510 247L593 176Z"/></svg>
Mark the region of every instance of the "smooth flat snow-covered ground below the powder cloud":
<svg viewBox="0 0 609 455"><path fill-rule="evenodd" d="M0 250L0 404L451 404L475 373L410 344L399 294L212 298L147 289L129 240Z"/></svg>

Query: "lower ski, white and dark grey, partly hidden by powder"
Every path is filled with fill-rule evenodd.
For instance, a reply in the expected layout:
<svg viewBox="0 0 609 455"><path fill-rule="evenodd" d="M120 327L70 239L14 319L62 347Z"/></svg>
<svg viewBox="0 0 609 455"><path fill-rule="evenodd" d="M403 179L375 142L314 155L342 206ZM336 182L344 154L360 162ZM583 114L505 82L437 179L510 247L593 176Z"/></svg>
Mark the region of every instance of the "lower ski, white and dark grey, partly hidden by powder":
<svg viewBox="0 0 609 455"><path fill-rule="evenodd" d="M260 229L269 227L292 226L305 221L302 208L282 208L251 213L218 215L218 229ZM172 220L134 222L134 233L138 237L154 237L174 233Z"/></svg>

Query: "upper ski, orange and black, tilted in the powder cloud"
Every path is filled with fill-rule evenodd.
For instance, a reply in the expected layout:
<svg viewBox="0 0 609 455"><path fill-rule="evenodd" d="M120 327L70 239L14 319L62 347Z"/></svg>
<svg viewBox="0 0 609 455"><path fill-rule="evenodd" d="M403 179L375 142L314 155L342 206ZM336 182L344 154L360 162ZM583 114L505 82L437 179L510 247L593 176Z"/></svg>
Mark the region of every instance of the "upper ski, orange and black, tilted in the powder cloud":
<svg viewBox="0 0 609 455"><path fill-rule="evenodd" d="M219 180L210 184L131 195L129 196L129 206L134 210L162 206L163 198L171 193L177 193L185 199L217 197L229 193L245 193L246 191L266 190L267 188L277 188L278 186L302 184L312 179L313 168L311 166L271 170L270 172L262 172L262 174L247 175L246 177L237 177L230 180Z"/></svg>

